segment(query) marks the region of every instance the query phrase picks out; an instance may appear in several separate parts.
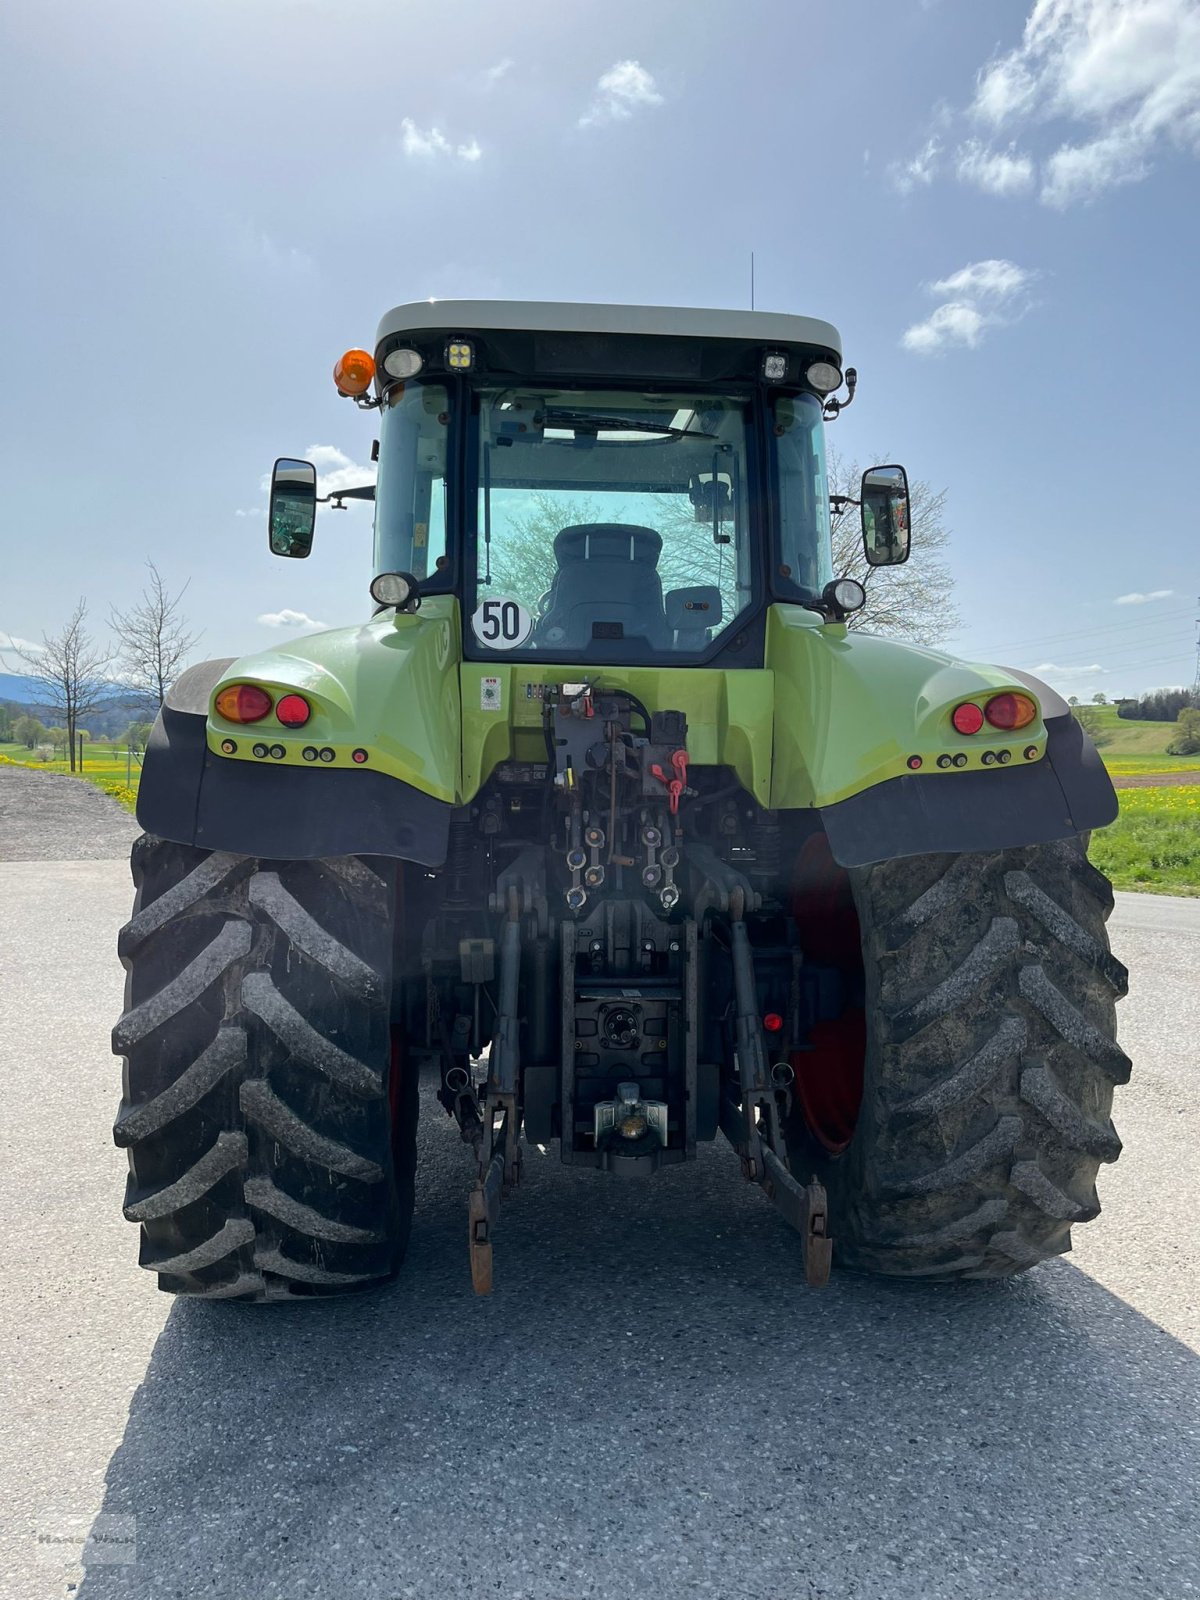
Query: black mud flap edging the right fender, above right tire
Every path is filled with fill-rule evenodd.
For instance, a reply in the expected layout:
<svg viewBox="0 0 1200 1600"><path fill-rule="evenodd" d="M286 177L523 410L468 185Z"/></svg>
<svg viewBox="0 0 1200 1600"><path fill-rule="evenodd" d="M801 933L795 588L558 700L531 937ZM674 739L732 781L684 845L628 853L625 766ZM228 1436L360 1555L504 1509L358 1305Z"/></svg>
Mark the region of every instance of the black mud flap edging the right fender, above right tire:
<svg viewBox="0 0 1200 1600"><path fill-rule="evenodd" d="M821 808L843 867L1045 845L1107 827L1115 816L1112 779L1070 715L1046 718L1046 754L1027 766L891 778Z"/></svg>

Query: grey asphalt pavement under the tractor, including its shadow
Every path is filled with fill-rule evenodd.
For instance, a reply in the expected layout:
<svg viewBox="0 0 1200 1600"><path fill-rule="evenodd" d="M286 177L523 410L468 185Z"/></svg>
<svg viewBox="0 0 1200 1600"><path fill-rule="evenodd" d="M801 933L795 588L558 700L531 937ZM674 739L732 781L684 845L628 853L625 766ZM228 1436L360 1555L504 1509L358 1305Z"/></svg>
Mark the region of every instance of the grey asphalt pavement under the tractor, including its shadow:
<svg viewBox="0 0 1200 1600"><path fill-rule="evenodd" d="M403 1278L258 1309L134 1266L128 899L0 864L5 1600L1200 1595L1200 901L1118 898L1126 1147L1067 1259L813 1293L726 1147L645 1187L533 1150L477 1301L432 1106Z"/></svg>

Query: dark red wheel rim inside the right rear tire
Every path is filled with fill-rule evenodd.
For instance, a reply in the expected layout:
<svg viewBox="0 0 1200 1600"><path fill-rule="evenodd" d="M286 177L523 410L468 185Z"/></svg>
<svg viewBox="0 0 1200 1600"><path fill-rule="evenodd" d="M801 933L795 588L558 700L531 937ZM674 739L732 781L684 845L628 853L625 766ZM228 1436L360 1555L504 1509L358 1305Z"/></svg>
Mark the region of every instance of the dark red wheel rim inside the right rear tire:
<svg viewBox="0 0 1200 1600"><path fill-rule="evenodd" d="M824 834L808 838L792 875L792 918L800 944L813 958L846 974L862 973L862 938L850 874L840 867ZM810 1032L810 1050L795 1050L795 1099L810 1134L830 1155L854 1138L862 1106L862 1062L867 1019L859 1006Z"/></svg>

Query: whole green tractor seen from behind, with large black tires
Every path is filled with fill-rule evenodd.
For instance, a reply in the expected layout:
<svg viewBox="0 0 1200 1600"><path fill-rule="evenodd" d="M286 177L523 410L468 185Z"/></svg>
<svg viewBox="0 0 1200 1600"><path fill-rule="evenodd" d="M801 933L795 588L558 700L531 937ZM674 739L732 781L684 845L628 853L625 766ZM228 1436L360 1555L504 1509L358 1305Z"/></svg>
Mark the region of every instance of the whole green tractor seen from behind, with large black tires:
<svg viewBox="0 0 1200 1600"><path fill-rule="evenodd" d="M837 331L429 302L334 378L378 483L280 461L269 538L374 501L370 619L192 667L146 754L141 1264L245 1301L389 1278L422 1075L480 1293L528 1142L650 1178L722 1131L814 1285L1067 1250L1130 1070L1086 858L1115 795L1046 685L848 626ZM902 467L861 515L904 562Z"/></svg>

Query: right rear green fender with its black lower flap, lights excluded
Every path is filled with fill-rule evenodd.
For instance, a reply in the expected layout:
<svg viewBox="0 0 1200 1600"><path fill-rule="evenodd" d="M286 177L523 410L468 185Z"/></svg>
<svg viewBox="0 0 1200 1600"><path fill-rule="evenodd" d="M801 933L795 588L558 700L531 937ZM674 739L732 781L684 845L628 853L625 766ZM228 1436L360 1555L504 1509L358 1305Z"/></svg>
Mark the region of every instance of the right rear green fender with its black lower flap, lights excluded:
<svg viewBox="0 0 1200 1600"><path fill-rule="evenodd" d="M1096 747L1046 683L773 608L771 803L816 810L846 867L936 851L1042 845L1106 827L1117 795ZM950 712L1029 691L1027 728L957 734ZM1005 752L1005 762L984 765ZM939 766L939 757L966 765ZM912 765L915 762L915 766Z"/></svg>

